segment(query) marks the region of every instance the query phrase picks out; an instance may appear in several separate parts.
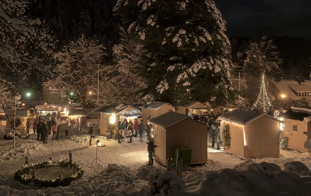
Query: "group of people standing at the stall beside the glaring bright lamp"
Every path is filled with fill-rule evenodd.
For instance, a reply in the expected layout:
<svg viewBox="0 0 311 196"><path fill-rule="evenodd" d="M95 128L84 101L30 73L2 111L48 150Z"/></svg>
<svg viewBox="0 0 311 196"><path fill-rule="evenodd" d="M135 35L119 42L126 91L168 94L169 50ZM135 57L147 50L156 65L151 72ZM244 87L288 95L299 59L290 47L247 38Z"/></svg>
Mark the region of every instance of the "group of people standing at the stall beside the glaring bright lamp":
<svg viewBox="0 0 311 196"><path fill-rule="evenodd" d="M127 119L124 119L123 122L119 121L118 122L118 143L122 143L121 141L123 140L122 138L129 137L130 140L128 143L132 143L132 137L137 137L138 133L140 136L139 141L142 143L142 133L144 131L144 123L143 120L140 120L138 122L137 118L134 119L134 122L130 120L129 122Z"/></svg>

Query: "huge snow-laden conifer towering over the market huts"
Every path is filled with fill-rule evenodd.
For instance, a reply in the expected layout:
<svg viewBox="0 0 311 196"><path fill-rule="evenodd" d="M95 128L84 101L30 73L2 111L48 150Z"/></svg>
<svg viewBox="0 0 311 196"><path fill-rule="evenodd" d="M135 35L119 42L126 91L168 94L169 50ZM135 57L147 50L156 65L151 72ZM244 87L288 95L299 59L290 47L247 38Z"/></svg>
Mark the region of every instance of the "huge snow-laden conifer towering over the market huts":
<svg viewBox="0 0 311 196"><path fill-rule="evenodd" d="M230 43L212 0L118 0L115 15L144 45L145 94L172 104L234 97Z"/></svg>

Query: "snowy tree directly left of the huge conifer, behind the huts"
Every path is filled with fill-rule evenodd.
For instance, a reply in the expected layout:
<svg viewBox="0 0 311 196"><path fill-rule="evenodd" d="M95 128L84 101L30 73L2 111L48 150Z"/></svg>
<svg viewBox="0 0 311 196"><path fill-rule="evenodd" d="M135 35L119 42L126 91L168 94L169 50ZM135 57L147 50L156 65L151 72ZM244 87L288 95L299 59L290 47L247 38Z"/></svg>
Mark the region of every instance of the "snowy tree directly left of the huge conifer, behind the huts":
<svg viewBox="0 0 311 196"><path fill-rule="evenodd" d="M139 61L143 53L142 45L130 40L123 28L120 29L120 42L113 47L114 64L105 67L104 100L110 103L128 103L133 105L139 101L140 89L145 86L144 79L138 75ZM108 85L110 84L110 85Z"/></svg>

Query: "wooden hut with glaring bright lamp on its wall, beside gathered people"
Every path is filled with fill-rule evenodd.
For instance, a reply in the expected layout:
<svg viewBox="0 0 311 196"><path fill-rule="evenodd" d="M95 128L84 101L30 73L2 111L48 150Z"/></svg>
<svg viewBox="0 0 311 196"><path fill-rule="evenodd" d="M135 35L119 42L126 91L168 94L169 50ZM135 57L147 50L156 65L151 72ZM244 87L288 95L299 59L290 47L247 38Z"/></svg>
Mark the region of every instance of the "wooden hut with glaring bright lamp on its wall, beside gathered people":
<svg viewBox="0 0 311 196"><path fill-rule="evenodd" d="M113 124L115 125L115 136L117 135L117 125L118 121L126 118L128 121L131 119L132 121L138 116L141 115L141 112L138 108L132 106L125 106L123 104L110 104L102 107L97 110L101 113L100 117L100 135L107 136L109 133L107 132L107 125Z"/></svg>

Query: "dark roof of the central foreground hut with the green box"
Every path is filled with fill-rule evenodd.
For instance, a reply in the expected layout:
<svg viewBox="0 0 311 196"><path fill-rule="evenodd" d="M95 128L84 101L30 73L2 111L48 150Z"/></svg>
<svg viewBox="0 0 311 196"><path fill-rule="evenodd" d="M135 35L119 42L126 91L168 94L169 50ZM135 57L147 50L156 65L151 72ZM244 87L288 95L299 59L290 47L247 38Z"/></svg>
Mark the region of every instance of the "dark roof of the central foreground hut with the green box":
<svg viewBox="0 0 311 196"><path fill-rule="evenodd" d="M166 129L188 118L192 119L190 116L179 114L170 110L158 117L151 119L148 123L152 123Z"/></svg>

